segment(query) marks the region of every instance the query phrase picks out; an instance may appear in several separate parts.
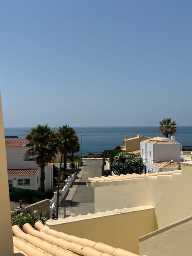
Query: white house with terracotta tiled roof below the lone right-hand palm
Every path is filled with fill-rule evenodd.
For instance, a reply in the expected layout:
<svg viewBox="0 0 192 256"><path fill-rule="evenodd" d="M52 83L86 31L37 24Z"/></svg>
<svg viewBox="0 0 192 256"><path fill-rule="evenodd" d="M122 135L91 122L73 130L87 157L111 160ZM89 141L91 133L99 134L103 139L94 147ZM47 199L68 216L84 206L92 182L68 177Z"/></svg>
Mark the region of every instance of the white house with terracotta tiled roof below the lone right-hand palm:
<svg viewBox="0 0 192 256"><path fill-rule="evenodd" d="M180 143L174 139L154 137L140 142L146 172L177 170L181 161Z"/></svg>

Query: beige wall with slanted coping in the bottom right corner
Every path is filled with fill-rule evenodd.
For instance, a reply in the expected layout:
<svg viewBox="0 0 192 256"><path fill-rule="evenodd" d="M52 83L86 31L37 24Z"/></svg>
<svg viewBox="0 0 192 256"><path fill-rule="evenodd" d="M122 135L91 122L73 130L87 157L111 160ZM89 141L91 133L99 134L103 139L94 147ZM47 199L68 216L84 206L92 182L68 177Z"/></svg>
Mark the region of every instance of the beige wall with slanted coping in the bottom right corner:
<svg viewBox="0 0 192 256"><path fill-rule="evenodd" d="M139 239L140 255L191 256L192 216Z"/></svg>

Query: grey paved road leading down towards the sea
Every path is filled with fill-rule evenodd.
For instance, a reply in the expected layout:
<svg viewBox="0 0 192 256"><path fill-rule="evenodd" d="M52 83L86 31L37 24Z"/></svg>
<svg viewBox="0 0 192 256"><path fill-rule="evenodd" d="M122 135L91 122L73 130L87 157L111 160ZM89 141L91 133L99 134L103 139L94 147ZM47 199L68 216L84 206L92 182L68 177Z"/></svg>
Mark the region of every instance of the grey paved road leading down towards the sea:
<svg viewBox="0 0 192 256"><path fill-rule="evenodd" d="M71 205L76 214L94 213L94 188L87 187L86 182L88 177L101 176L101 165L101 159L84 160L84 170Z"/></svg>

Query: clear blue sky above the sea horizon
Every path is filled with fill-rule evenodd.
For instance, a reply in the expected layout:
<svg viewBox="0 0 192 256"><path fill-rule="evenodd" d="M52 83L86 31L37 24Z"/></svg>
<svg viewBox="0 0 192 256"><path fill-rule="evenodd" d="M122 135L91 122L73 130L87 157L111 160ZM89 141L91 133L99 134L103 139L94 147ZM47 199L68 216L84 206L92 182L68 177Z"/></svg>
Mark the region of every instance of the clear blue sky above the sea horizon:
<svg viewBox="0 0 192 256"><path fill-rule="evenodd" d="M192 1L2 0L5 127L192 125Z"/></svg>

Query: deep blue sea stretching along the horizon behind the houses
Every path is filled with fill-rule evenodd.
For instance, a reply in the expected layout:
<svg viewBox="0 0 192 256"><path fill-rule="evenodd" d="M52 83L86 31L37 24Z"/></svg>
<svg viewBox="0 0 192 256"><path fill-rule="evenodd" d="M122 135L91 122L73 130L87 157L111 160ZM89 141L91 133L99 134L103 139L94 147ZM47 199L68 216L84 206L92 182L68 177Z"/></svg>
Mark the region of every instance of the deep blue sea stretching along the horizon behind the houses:
<svg viewBox="0 0 192 256"><path fill-rule="evenodd" d="M4 128L5 136L18 136L24 138L30 132L29 127ZM122 145L125 136L132 138L137 134L156 137L162 136L157 126L128 126L128 127L74 127L78 133L80 151L78 154L86 156L89 152L94 154L102 153L104 150L113 149ZM81 133L82 132L82 133ZM178 126L174 135L183 146L192 146L192 126Z"/></svg>

